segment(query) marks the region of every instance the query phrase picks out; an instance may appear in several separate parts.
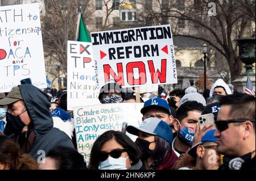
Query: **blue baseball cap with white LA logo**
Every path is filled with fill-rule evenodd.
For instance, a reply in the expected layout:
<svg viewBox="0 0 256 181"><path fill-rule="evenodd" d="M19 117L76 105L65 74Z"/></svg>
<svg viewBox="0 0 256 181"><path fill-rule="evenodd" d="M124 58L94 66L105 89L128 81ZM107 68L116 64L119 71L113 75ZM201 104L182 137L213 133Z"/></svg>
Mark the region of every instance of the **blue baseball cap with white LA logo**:
<svg viewBox="0 0 256 181"><path fill-rule="evenodd" d="M171 115L168 102L162 98L155 97L152 99L148 99L146 102L144 102L144 107L141 109L141 113L144 115L147 110L152 108L163 110Z"/></svg>

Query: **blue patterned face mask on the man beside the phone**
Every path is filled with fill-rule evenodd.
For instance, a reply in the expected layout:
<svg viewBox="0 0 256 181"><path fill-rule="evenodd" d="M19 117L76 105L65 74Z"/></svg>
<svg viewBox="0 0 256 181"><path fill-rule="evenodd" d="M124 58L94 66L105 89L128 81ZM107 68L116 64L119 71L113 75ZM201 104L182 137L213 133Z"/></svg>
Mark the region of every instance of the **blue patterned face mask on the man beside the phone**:
<svg viewBox="0 0 256 181"><path fill-rule="evenodd" d="M185 127L184 125L180 125L178 136L180 140L184 141L186 144L192 145L195 131L196 131L195 128Z"/></svg>

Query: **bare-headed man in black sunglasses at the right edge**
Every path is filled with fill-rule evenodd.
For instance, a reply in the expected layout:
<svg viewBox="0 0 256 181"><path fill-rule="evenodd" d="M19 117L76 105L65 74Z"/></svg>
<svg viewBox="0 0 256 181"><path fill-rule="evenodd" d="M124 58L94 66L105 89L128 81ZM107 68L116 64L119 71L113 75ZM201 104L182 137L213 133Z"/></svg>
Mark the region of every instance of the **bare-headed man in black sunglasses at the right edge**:
<svg viewBox="0 0 256 181"><path fill-rule="evenodd" d="M214 136L225 157L219 170L255 170L255 97L226 95L220 105Z"/></svg>

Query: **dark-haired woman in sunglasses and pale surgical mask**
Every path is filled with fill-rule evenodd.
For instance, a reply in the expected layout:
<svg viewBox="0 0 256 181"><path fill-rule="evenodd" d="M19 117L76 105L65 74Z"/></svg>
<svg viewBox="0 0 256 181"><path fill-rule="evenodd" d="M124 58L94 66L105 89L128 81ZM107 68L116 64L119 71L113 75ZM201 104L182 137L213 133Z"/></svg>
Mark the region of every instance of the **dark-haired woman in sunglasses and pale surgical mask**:
<svg viewBox="0 0 256 181"><path fill-rule="evenodd" d="M141 157L139 147L126 134L107 131L94 142L90 152L91 170L136 169ZM141 166L138 167L140 169Z"/></svg>

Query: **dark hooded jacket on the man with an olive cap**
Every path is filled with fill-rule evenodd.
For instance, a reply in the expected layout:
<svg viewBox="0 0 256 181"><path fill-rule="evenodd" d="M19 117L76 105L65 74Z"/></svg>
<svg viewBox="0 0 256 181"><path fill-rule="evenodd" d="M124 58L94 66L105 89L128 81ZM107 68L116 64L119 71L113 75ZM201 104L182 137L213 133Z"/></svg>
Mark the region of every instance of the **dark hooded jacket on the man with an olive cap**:
<svg viewBox="0 0 256 181"><path fill-rule="evenodd" d="M42 150L47 154L55 146L74 148L71 138L60 129L53 127L48 95L30 84L19 85L19 89L31 118L27 135L29 137L31 132L35 133L28 154L37 159L42 155ZM25 144L28 137L26 137Z"/></svg>

